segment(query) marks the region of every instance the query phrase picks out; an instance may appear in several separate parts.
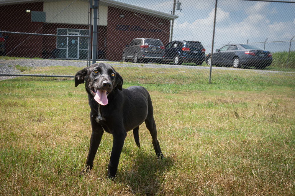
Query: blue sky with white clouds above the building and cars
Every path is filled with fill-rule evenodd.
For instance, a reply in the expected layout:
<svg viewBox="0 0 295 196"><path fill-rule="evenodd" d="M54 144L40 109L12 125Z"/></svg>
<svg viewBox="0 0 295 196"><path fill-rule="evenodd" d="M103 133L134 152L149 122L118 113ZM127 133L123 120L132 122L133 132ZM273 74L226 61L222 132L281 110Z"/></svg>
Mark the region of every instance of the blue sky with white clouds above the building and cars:
<svg viewBox="0 0 295 196"><path fill-rule="evenodd" d="M117 0L171 13L173 0ZM295 0L289 0L295 2ZM211 51L215 0L179 0L173 40L201 41ZM218 0L214 50L228 43L291 40L295 36L295 3ZM294 39L295 40L295 37ZM264 48L264 44L253 44ZM290 42L266 43L269 51L288 51ZM295 41L291 44L295 51Z"/></svg>

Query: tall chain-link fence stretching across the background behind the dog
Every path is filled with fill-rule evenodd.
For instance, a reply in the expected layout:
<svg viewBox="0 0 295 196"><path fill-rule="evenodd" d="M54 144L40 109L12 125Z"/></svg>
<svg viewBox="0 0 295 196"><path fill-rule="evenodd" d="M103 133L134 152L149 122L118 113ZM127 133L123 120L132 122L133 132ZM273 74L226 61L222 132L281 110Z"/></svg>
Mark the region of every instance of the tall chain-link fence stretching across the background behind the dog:
<svg viewBox="0 0 295 196"><path fill-rule="evenodd" d="M294 85L295 1L0 1L0 75ZM163 78L165 78L163 80Z"/></svg>

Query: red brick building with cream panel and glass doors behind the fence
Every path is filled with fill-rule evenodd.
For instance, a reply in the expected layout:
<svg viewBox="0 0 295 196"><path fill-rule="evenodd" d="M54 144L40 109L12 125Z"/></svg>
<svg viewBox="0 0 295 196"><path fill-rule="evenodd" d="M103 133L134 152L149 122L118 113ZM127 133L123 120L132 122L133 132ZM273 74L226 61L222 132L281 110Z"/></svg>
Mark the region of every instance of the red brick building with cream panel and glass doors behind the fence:
<svg viewBox="0 0 295 196"><path fill-rule="evenodd" d="M2 31L89 35L87 0L2 0L0 10ZM170 22L177 18L119 1L100 0L98 58L120 60L125 45L139 37L158 38L165 45L169 41ZM6 35L8 56L86 59L88 55L88 38Z"/></svg>

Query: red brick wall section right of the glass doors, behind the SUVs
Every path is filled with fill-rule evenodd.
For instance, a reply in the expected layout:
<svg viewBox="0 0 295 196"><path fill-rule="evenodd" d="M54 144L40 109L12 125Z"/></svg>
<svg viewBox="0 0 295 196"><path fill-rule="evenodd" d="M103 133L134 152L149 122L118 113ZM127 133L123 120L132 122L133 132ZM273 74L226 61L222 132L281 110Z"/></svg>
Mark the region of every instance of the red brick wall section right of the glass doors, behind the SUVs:
<svg viewBox="0 0 295 196"><path fill-rule="evenodd" d="M120 14L123 14L124 17L120 18ZM164 45L169 42L169 20L144 14L136 13L136 15L131 11L108 7L106 58L110 61L121 60L125 45L129 44L134 38L157 38ZM118 30L118 25L126 25L128 28ZM134 26L139 26L140 29ZM161 31L153 32L153 29L160 29Z"/></svg>

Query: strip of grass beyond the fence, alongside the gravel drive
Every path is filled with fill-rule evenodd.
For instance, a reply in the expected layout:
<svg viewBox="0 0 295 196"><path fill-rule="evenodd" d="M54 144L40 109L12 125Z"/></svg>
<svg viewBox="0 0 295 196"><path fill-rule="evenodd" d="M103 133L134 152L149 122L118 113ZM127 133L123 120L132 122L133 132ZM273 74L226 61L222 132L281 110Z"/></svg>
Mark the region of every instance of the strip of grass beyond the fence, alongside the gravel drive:
<svg viewBox="0 0 295 196"><path fill-rule="evenodd" d="M112 65L124 78L125 82L138 84L208 84L209 69L194 70L189 68L148 68L124 67ZM23 71L24 74L72 75L81 70L75 66L38 67ZM213 70L213 84L235 84L254 86L295 85L294 73L270 73L256 70ZM250 87L249 86L249 87Z"/></svg>

